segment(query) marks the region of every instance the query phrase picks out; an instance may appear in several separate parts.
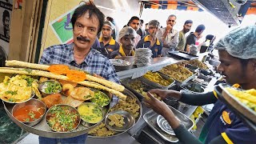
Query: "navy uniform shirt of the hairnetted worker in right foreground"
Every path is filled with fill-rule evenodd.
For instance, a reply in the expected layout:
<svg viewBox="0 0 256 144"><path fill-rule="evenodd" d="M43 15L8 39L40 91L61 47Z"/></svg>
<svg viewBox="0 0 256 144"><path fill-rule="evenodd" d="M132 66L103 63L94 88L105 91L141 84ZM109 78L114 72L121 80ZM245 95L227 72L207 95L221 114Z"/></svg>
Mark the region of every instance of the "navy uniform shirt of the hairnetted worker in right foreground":
<svg viewBox="0 0 256 144"><path fill-rule="evenodd" d="M202 128L199 139L203 143L209 143L220 134L227 143L256 143L256 133L218 100Z"/></svg>

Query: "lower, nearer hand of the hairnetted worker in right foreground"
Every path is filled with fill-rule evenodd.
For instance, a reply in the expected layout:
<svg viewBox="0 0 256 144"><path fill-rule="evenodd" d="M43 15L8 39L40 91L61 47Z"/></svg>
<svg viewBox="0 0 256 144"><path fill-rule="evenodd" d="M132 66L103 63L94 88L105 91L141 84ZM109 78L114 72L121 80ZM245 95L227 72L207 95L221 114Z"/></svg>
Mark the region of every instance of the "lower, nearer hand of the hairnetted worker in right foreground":
<svg viewBox="0 0 256 144"><path fill-rule="evenodd" d="M154 96L150 94L150 92L147 92L147 95L150 98L149 99L144 98L143 101L146 103L146 106L150 107L156 113L163 115L163 114L166 114L166 110L167 111L170 110L170 108L166 105L165 102L159 101L157 98L154 98Z"/></svg>

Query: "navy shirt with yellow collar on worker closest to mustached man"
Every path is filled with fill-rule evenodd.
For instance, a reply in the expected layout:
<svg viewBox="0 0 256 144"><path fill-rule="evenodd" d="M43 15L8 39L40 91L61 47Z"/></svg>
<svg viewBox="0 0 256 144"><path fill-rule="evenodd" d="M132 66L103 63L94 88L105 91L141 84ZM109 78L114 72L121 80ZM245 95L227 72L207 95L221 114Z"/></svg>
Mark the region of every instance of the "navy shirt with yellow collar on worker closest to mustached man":
<svg viewBox="0 0 256 144"><path fill-rule="evenodd" d="M102 37L99 38L99 42L100 42L101 48L105 48L107 50L108 52L107 58L110 58L111 53L115 50L119 50L119 47L120 47L119 43L116 42L112 37L110 39L110 42L107 43L105 46L104 46L104 43L102 42Z"/></svg>

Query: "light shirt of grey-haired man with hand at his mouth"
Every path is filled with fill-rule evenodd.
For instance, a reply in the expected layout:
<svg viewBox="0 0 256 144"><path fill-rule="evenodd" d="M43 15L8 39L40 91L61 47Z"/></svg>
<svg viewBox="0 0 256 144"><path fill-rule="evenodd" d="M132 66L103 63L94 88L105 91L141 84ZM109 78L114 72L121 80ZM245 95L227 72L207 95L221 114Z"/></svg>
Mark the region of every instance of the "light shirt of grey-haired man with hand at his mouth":
<svg viewBox="0 0 256 144"><path fill-rule="evenodd" d="M165 34L165 32L166 28L160 28L156 37L159 39L160 42L162 42L162 47L174 50L178 45L178 30L171 30L170 33L166 35L166 38L163 41L162 36L163 34Z"/></svg>

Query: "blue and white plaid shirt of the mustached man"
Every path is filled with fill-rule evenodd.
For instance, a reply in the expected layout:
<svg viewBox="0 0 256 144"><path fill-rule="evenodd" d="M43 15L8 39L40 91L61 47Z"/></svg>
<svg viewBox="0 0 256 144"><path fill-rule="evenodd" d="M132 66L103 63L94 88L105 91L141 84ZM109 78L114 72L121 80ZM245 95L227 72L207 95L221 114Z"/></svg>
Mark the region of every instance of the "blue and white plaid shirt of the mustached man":
<svg viewBox="0 0 256 144"><path fill-rule="evenodd" d="M43 51L41 64L66 64L86 70L90 74L98 74L107 80L120 83L114 66L108 58L104 57L97 50L90 49L84 62L78 64L74 60L74 43L54 45Z"/></svg>

